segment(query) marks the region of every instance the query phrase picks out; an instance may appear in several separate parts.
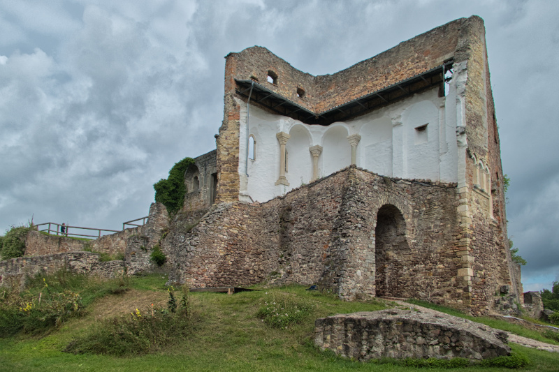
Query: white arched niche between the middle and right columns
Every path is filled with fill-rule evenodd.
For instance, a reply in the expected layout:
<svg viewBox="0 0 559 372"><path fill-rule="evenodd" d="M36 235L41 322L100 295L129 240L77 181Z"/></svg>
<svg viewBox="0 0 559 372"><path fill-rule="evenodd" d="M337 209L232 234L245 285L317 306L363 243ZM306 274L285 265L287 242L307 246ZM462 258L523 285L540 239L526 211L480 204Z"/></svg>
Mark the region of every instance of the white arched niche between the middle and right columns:
<svg viewBox="0 0 559 372"><path fill-rule="evenodd" d="M328 176L351 164L351 145L347 140L347 128L333 126L324 133L322 140L322 169L319 177ZM308 151L307 151L308 152Z"/></svg>

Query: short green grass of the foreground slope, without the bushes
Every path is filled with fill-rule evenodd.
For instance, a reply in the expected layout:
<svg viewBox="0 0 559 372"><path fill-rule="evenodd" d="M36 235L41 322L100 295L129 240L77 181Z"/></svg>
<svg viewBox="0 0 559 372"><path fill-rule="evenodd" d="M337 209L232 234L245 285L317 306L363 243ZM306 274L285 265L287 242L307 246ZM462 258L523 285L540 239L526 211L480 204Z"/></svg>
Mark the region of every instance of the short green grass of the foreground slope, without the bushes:
<svg viewBox="0 0 559 372"><path fill-rule="evenodd" d="M156 355L116 358L70 355L61 352L73 336L108 314L126 315L150 302L166 302L165 278L150 276L133 281L133 290L107 295L83 318L67 322L43 338L0 338L0 371L416 371L393 364L359 363L319 352L312 345L314 318L334 313L374 311L377 303L340 302L330 295L305 292L301 287L278 290L295 292L317 304L313 317L291 329L272 329L254 314L267 297L266 290L192 293L195 327L192 335ZM145 304L141 305L141 302ZM140 304L140 305L138 305ZM101 315L101 316L99 316ZM532 360L529 371L558 371L559 355L513 345ZM506 371L460 369L460 371ZM438 371L431 369L430 371ZM456 370L453 370L456 371Z"/></svg>

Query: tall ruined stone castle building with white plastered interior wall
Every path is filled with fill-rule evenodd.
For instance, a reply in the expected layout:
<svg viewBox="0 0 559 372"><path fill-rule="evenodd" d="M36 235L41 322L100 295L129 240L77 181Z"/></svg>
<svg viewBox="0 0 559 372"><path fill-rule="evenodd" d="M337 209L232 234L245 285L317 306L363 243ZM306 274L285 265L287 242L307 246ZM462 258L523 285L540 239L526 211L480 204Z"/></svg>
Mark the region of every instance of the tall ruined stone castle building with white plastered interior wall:
<svg viewBox="0 0 559 372"><path fill-rule="evenodd" d="M173 278L318 283L474 314L502 288L521 302L481 18L333 75L264 47L230 53L224 104L217 150L185 177L183 218L205 216L164 241Z"/></svg>

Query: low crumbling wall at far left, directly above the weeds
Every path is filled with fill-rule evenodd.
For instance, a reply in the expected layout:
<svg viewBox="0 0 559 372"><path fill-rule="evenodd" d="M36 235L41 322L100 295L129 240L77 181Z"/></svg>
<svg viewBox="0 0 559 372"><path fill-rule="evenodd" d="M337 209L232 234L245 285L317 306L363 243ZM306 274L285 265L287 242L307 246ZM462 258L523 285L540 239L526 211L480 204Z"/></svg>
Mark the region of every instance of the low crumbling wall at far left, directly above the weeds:
<svg viewBox="0 0 559 372"><path fill-rule="evenodd" d="M99 253L65 252L52 255L12 258L0 261L0 287L23 287L27 277L39 273L54 274L66 268L76 274L89 274L112 278L124 272L122 260L100 262Z"/></svg>

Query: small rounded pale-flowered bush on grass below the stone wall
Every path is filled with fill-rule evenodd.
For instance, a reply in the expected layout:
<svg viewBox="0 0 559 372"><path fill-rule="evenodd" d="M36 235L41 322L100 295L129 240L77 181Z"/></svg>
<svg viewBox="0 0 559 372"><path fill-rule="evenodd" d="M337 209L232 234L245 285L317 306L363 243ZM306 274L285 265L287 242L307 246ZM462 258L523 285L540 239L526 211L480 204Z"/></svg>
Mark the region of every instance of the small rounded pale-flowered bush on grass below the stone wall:
<svg viewBox="0 0 559 372"><path fill-rule="evenodd" d="M303 322L314 313L314 308L314 304L307 299L300 299L289 293L271 292L256 316L271 327L287 329Z"/></svg>

